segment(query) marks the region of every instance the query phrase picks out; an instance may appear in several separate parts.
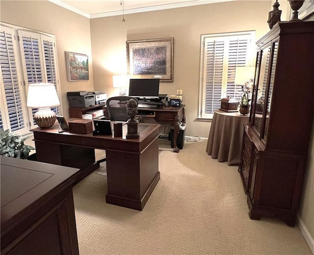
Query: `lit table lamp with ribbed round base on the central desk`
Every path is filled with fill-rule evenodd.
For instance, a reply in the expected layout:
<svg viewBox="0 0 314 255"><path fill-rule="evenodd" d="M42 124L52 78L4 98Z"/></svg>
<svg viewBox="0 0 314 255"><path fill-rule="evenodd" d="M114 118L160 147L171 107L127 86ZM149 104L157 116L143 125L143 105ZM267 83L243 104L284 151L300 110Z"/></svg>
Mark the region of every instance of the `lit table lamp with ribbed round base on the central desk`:
<svg viewBox="0 0 314 255"><path fill-rule="evenodd" d="M38 112L34 114L34 120L39 127L46 129L53 126L56 116L50 108L59 105L60 102L53 84L29 84L27 107L38 108Z"/></svg>

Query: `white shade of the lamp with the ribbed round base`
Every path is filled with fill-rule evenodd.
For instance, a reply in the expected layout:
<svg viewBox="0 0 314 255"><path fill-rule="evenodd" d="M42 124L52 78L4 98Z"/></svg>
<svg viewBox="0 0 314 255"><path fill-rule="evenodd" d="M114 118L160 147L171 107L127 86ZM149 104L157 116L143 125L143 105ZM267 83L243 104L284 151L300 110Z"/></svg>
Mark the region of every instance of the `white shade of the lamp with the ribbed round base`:
<svg viewBox="0 0 314 255"><path fill-rule="evenodd" d="M29 84L27 94L27 107L47 108L58 105L60 105L60 102L53 84Z"/></svg>

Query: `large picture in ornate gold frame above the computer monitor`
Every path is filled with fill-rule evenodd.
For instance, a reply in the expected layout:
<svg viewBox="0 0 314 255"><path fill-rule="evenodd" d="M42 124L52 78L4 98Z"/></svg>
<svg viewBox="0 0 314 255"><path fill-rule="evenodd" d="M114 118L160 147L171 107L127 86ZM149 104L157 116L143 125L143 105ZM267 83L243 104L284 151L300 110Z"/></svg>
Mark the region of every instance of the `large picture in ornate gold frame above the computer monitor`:
<svg viewBox="0 0 314 255"><path fill-rule="evenodd" d="M129 74L173 82L174 38L127 41Z"/></svg>

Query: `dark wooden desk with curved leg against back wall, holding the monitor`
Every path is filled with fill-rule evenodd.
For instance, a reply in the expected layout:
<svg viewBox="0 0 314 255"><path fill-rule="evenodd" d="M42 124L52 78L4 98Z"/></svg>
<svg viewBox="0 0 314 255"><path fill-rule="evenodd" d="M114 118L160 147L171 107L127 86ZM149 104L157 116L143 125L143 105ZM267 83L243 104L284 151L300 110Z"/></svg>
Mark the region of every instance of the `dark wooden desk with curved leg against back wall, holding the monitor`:
<svg viewBox="0 0 314 255"><path fill-rule="evenodd" d="M174 138L173 138L173 151L179 152L180 149L177 147L177 139L179 135L179 122L185 123L185 105L181 105L180 107L168 106L164 105L159 106L157 108L138 108L137 111L139 113L153 113L152 115L137 115L137 117L152 117L158 124L171 124L174 126ZM104 116L108 118L107 108L103 107Z"/></svg>

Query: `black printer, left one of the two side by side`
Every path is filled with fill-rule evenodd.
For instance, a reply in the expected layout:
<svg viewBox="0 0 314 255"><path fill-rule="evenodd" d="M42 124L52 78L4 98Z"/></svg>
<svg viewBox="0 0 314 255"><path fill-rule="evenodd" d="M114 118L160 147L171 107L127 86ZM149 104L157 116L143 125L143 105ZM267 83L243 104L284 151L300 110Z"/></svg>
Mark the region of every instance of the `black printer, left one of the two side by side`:
<svg viewBox="0 0 314 255"><path fill-rule="evenodd" d="M95 95L87 91L67 92L70 107L86 108L95 105Z"/></svg>

